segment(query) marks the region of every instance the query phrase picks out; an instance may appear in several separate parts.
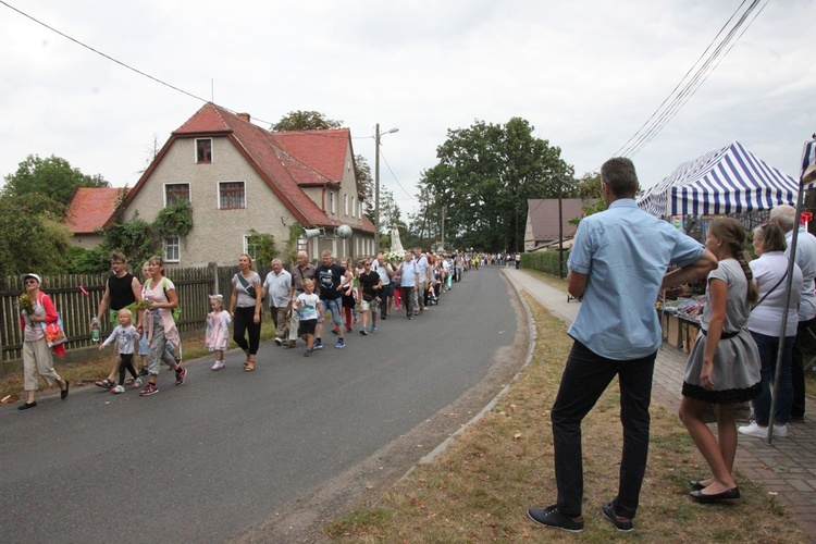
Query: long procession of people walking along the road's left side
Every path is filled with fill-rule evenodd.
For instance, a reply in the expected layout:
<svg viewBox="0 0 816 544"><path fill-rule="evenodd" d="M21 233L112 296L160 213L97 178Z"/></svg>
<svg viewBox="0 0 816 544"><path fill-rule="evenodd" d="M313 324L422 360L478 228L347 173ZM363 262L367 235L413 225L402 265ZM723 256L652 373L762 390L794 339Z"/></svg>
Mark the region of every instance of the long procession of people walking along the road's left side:
<svg viewBox="0 0 816 544"><path fill-rule="evenodd" d="M252 258L240 255L228 298L222 294L209 297L211 311L203 334L206 346L215 357L212 370L226 367L224 353L232 338L246 355L244 371L255 371L264 301L275 326L275 346L295 348L302 341L304 356L311 357L323 348L324 331L336 336L334 347L341 349L355 329L368 336L378 333L379 326L397 312L405 312L408 319L422 316L440 304L466 270L474 268L472 259L481 262L484 258L419 248L406 251L400 259L391 254L388 257L381 251L356 261L343 258L337 263L331 251L323 251L321 261L314 264L301 251L292 271L285 270L281 259L274 259L272 271L261 280ZM98 338L102 341L100 351L112 347L113 364L110 373L95 384L113 394L125 393L125 385L141 387L139 395L150 396L159 392L159 367L163 362L175 372L175 385L183 385L187 370L175 323L180 300L175 285L164 275L162 258L154 256L145 262L139 280L127 271L126 257L114 252L111 272L90 326L97 333L91 335L96 341L106 317L115 325L108 338ZM25 410L37 406L37 373L49 385L59 384L63 399L70 384L53 369L53 355L64 355L64 346L51 346L47 341L46 325L58 320L53 302L39 290L37 274L25 274L21 281L27 293L24 298L33 301L21 307L26 400L20 409Z"/></svg>

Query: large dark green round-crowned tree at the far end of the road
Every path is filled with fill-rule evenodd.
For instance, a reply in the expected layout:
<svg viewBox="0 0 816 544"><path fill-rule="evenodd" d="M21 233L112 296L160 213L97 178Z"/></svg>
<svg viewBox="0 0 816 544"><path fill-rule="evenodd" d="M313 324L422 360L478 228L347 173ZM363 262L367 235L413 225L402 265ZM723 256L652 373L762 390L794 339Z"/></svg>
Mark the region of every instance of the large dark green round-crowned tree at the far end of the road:
<svg viewBox="0 0 816 544"><path fill-rule="evenodd" d="M440 162L420 178L420 226L429 239L437 236L432 224L441 223L444 208L446 243L485 251L523 247L527 200L556 197L573 172L561 150L533 131L520 118L448 129L436 149Z"/></svg>

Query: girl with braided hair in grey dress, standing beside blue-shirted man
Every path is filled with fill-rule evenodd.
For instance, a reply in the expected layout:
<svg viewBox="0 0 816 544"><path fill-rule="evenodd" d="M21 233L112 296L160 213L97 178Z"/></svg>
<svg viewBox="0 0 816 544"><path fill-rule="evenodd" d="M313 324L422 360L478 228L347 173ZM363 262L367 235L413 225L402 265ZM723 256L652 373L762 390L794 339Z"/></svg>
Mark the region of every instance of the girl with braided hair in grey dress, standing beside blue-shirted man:
<svg viewBox="0 0 816 544"><path fill-rule="evenodd" d="M757 288L744 258L744 242L745 230L734 219L718 219L708 228L705 245L719 267L708 274L701 334L683 378L680 419L713 474L692 482L691 496L704 503L740 498L732 477L738 436L734 413L740 403L761 391L759 353L745 329ZM716 437L704 421L709 405L717 420Z"/></svg>

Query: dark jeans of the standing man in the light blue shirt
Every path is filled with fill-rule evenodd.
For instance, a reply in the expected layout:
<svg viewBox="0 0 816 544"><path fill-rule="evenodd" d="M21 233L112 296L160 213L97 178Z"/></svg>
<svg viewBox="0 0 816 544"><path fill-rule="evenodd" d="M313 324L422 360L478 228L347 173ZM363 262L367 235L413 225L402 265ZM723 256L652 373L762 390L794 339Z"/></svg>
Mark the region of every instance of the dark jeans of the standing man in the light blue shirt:
<svg viewBox="0 0 816 544"><path fill-rule="evenodd" d="M654 353L642 359L618 361L592 353L580 342L572 345L553 411L555 479L558 508L569 517L581 515L583 460L581 421L617 375L620 382L620 422L623 456L620 461L615 511L634 518L648 457L648 405L652 400Z"/></svg>

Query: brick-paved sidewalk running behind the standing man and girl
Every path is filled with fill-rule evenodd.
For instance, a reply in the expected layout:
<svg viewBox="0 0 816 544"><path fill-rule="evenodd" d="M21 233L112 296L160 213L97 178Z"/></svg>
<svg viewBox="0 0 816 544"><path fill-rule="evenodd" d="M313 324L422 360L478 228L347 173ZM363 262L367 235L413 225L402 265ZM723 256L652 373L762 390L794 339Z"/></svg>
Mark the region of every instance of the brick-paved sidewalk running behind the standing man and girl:
<svg viewBox="0 0 816 544"><path fill-rule="evenodd" d="M567 301L564 290L549 286L523 270L504 269L505 275L539 304L567 323L571 323L581 307ZM685 353L664 343L657 353L652 397L669 410L680 406ZM796 524L816 542L816 424L813 410L816 399L807 398L811 413L804 421L789 422L787 438L766 441L740 435L735 467L739 472L759 483L786 505Z"/></svg>

